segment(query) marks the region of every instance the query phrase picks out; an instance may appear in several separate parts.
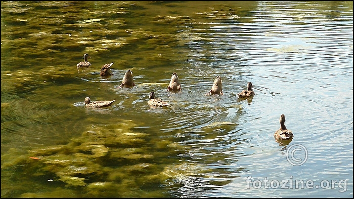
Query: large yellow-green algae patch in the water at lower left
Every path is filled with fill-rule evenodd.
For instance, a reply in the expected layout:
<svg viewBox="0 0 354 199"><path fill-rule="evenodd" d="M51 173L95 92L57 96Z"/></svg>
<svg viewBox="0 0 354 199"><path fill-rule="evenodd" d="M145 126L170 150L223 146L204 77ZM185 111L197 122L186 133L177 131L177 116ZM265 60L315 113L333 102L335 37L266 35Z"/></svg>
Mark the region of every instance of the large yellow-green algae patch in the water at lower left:
<svg viewBox="0 0 354 199"><path fill-rule="evenodd" d="M151 144L147 140L149 134L131 130L138 124L117 121L117 125L91 125L67 144L30 149L28 154L3 167L30 165L38 177L51 173L56 176L53 181L62 181L66 186L86 186L94 195L107 187L137 187L136 180L129 180L131 174L140 173L141 180L149 179L157 184L166 180L166 172L162 172L164 164L155 163L154 158L163 155L158 148L167 147L175 151L178 145L162 140L156 143L156 150L152 150L153 146L149 146ZM32 160L28 156L37 159ZM171 175L174 174L169 173L169 177ZM120 185L116 184L118 182Z"/></svg>

